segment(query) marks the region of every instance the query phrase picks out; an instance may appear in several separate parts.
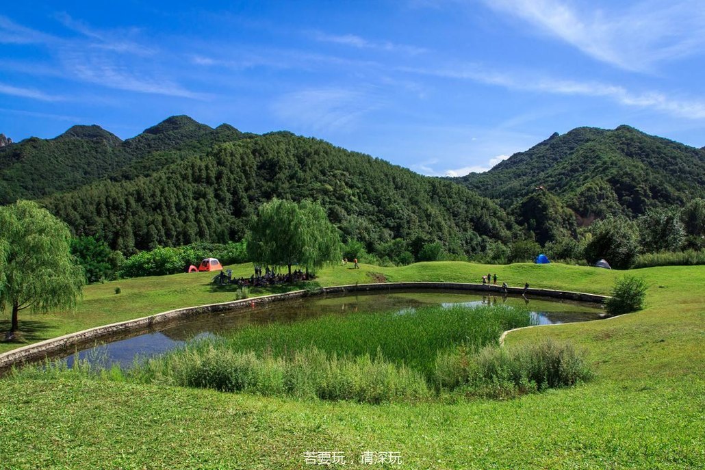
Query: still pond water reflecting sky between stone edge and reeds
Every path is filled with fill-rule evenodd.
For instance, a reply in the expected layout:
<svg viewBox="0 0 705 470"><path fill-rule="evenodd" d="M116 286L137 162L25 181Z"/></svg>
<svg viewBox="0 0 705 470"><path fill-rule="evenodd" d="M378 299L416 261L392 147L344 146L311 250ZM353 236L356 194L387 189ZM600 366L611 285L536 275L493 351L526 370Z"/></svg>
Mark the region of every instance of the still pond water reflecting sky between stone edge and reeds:
<svg viewBox="0 0 705 470"><path fill-rule="evenodd" d="M237 309L226 313L204 314L190 321L166 323L159 330L133 333L130 338L115 338L106 344L87 346L65 359L69 367L75 357L100 361L109 366L129 366L136 357L147 358L184 345L193 338L222 335L238 328L269 323L293 323L324 315L345 315L351 312L375 314L381 311L397 311L406 314L424 305L513 305L527 307L539 325L591 321L599 319L602 309L596 304L547 300L545 298L482 295L467 291L423 291L389 292L381 294L356 293L355 295L326 295L258 304L248 309Z"/></svg>

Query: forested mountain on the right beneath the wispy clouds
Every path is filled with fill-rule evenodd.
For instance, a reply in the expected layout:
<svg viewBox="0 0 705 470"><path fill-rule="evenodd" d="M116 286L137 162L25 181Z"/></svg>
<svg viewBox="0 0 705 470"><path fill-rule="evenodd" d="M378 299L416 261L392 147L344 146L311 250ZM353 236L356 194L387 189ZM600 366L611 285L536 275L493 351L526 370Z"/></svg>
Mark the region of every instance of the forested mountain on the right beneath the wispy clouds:
<svg viewBox="0 0 705 470"><path fill-rule="evenodd" d="M486 173L454 178L509 208L543 186L582 223L705 197L705 151L620 125L553 134Z"/></svg>

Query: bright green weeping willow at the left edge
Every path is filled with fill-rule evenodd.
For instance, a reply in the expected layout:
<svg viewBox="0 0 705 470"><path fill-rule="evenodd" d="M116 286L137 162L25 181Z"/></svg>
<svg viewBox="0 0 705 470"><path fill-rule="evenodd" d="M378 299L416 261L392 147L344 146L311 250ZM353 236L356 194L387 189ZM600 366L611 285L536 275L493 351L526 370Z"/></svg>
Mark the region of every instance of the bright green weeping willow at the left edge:
<svg viewBox="0 0 705 470"><path fill-rule="evenodd" d="M35 202L0 207L0 308L11 309L8 337L19 329L18 312L70 308L85 283L70 251L68 226ZM4 249L3 249L4 246Z"/></svg>

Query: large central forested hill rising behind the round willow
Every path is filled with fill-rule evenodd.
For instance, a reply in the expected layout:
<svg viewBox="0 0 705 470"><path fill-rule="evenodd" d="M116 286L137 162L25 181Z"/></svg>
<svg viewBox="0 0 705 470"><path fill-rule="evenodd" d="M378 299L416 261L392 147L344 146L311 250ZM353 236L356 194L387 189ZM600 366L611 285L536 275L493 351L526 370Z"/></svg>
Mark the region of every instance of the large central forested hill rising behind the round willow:
<svg viewBox="0 0 705 470"><path fill-rule="evenodd" d="M458 254L510 240L496 204L453 182L289 132L216 145L125 181L100 181L42 202L77 235L131 253L199 240L240 240L273 197L314 199L344 235L374 250L395 238L439 240Z"/></svg>

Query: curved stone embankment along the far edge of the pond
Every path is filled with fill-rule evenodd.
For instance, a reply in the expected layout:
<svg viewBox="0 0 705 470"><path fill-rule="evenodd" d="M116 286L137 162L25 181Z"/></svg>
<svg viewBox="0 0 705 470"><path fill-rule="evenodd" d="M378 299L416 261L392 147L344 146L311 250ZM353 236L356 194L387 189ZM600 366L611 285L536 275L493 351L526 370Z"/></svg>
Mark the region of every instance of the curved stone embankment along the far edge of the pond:
<svg viewBox="0 0 705 470"><path fill-rule="evenodd" d="M258 304L266 304L269 302L278 302L281 300L296 299L307 297L310 295L325 295L338 294L345 292L372 292L372 291L391 291L391 290L470 290L473 292L488 292L492 294L502 295L505 290L497 285L482 285L470 283L379 283L379 284L355 284L355 285L338 285L333 287L321 287L315 291L295 290L284 294L264 295L262 297L252 297L250 299L235 300L233 302L224 302L221 304L201 305L199 307L185 307L164 311L160 314L144 316L140 319L121 321L119 323L111 323L109 325L97 326L88 330L69 333L68 335L51 338L42 342L36 342L32 345L19 347L16 350L0 354L0 373L6 371L15 364L24 364L25 362L40 361L46 357L51 357L59 354L73 352L82 345L91 345L95 342L101 342L116 336L134 333L135 331L149 331L158 329L161 324L170 323L173 321L183 321L195 316L212 314L219 311L230 311L234 309L244 309L254 307ZM522 287L508 287L508 294L522 294ZM531 289L527 291L528 295L538 297L552 297L555 299L568 299L579 302L596 302L602 303L606 299L603 295L587 294L584 292L570 292L564 290L549 290L549 289ZM508 331L503 333L501 342L504 340Z"/></svg>

